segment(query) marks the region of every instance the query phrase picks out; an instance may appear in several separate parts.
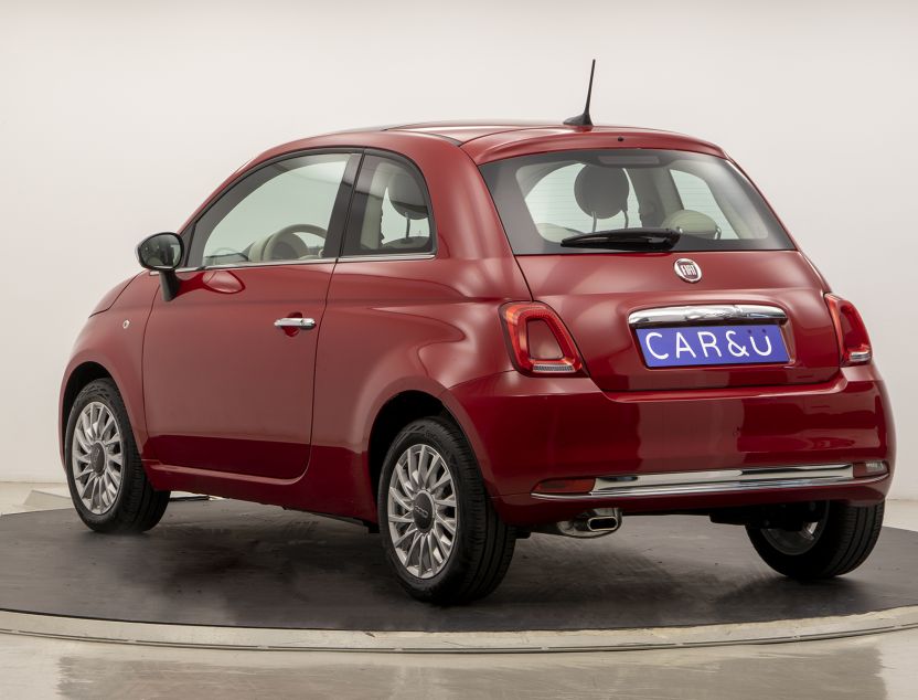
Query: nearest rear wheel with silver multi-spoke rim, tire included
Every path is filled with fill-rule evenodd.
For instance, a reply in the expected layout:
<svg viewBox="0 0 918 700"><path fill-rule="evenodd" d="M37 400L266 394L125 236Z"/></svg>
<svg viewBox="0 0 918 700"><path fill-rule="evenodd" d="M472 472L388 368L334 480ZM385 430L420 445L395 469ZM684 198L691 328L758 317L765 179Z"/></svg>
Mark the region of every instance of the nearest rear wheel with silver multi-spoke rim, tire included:
<svg viewBox="0 0 918 700"><path fill-rule="evenodd" d="M415 598L466 603L503 580L515 531L494 511L474 454L451 421L423 418L398 433L383 464L377 508L386 559Z"/></svg>

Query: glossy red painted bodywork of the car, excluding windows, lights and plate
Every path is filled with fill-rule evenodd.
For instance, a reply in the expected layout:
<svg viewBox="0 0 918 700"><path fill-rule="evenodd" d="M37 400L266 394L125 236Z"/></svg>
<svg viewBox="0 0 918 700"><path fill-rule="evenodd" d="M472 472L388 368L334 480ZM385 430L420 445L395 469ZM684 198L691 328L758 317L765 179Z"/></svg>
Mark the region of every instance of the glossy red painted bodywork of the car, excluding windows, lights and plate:
<svg viewBox="0 0 918 700"><path fill-rule="evenodd" d="M171 303L159 295L158 277L145 273L107 297L110 307L77 340L65 388L87 362L113 375L158 488L374 521L371 429L389 400L413 391L437 397L458 421L499 511L516 523L572 517L587 506L651 512L872 502L888 490L890 477L627 503L530 496L546 478L867 459L892 467L883 383L873 365L839 368L822 299L828 287L802 254L693 253L704 269L696 285L673 275L670 254L517 259L477 167L565 148L682 148L723 157L715 146L613 127L428 125L306 139L267 151L246 169L337 146L388 149L417 163L437 226L435 257L181 273ZM513 368L499 309L531 299L557 311L588 376L524 376ZM628 314L707 303L783 308L791 361L647 369ZM285 333L273 326L296 315L318 327ZM64 399L62 391L62 420Z"/></svg>

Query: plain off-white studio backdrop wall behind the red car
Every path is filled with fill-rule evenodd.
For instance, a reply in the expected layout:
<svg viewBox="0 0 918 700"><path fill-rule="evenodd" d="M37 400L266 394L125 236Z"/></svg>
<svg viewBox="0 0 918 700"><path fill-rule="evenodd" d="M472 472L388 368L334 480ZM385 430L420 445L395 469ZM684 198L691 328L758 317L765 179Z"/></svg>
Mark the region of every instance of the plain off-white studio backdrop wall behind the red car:
<svg viewBox="0 0 918 700"><path fill-rule="evenodd" d="M918 9L743 3L0 0L0 479L62 478L70 347L132 248L256 152L439 118L594 118L724 146L864 315L918 497Z"/></svg>

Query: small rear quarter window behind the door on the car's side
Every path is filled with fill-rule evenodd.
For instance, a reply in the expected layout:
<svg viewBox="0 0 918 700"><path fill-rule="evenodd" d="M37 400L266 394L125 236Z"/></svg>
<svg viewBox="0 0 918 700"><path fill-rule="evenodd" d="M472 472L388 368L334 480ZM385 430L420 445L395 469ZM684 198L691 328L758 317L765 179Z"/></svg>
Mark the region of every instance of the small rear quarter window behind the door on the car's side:
<svg viewBox="0 0 918 700"><path fill-rule="evenodd" d="M364 157L344 234L344 255L430 253L431 231L420 173L393 158Z"/></svg>

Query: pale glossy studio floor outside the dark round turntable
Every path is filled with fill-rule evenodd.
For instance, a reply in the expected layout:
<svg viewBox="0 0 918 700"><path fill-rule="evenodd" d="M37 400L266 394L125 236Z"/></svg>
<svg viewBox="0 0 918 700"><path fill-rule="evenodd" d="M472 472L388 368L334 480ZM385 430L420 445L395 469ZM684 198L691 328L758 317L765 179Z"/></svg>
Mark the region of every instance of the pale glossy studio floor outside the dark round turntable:
<svg viewBox="0 0 918 700"><path fill-rule="evenodd" d="M0 513L61 507L61 495L55 485L0 484ZM918 503L892 501L887 524L918 530ZM918 630L796 644L488 656L192 651L0 635L0 699L916 698L916 657Z"/></svg>

